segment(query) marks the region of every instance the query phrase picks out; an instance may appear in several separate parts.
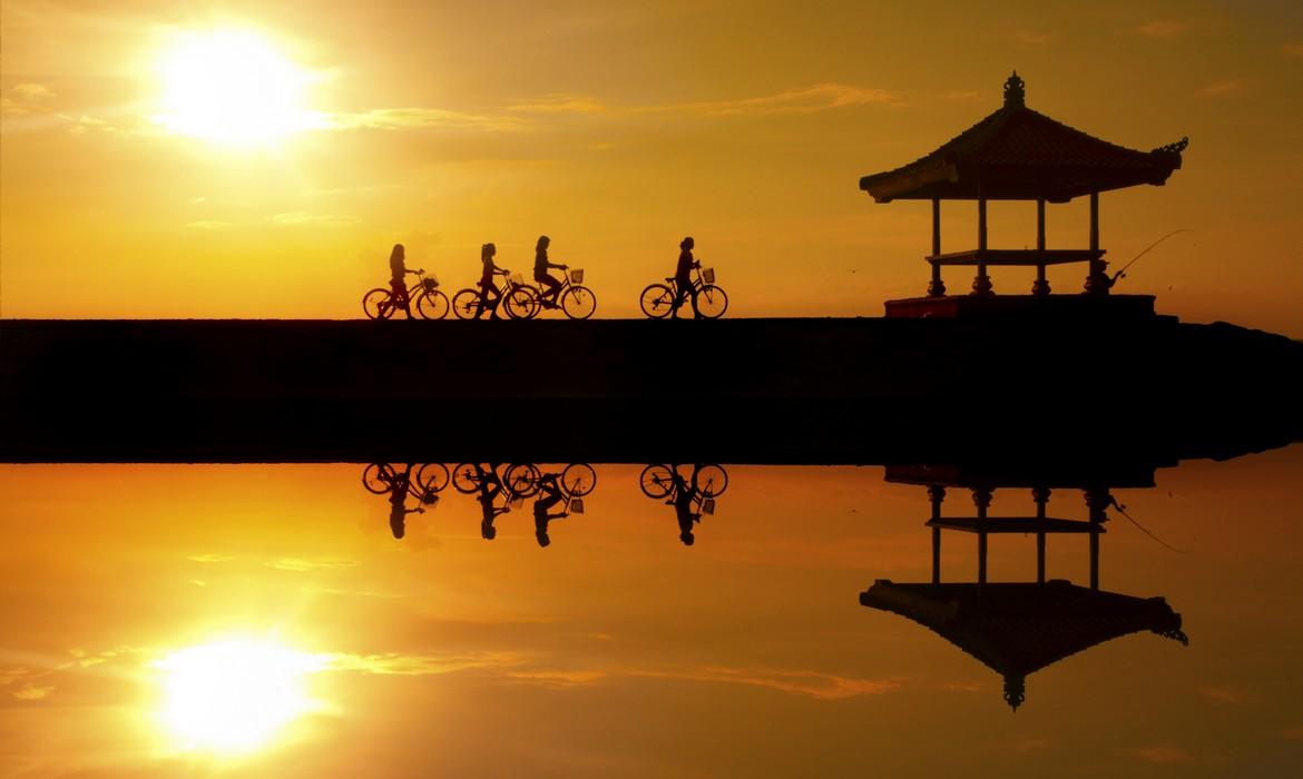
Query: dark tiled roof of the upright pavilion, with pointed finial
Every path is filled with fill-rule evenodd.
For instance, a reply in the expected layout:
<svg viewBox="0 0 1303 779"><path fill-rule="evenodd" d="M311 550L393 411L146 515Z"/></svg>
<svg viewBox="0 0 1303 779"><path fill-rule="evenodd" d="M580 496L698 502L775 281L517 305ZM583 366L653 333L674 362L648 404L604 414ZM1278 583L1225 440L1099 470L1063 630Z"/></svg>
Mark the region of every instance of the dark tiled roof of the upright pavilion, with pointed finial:
<svg viewBox="0 0 1303 779"><path fill-rule="evenodd" d="M1181 167L1188 139L1136 151L1101 141L1032 111L1023 79L1005 82L1005 104L936 151L894 171L860 178L880 203L894 199L1066 202L1078 195L1152 184Z"/></svg>

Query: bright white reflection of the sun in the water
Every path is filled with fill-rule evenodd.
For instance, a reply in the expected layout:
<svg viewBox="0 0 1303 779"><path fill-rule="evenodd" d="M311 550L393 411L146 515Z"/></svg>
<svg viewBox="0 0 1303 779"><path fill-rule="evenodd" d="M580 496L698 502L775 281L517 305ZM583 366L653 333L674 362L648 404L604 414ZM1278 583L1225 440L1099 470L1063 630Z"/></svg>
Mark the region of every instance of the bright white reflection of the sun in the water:
<svg viewBox="0 0 1303 779"><path fill-rule="evenodd" d="M159 714L177 745L238 753L266 744L313 709L304 676L324 660L276 644L231 640L175 651L154 666L164 675Z"/></svg>

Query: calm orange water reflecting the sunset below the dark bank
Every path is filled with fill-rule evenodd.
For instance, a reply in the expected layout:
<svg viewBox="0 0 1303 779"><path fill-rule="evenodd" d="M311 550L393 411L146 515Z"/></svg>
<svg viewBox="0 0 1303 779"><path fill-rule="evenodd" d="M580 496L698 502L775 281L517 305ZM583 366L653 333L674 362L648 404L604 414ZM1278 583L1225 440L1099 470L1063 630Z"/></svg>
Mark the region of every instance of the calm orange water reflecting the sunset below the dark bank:
<svg viewBox="0 0 1303 779"><path fill-rule="evenodd" d="M399 504L364 466L0 466L0 775L1303 769L1300 446L1110 490L1135 522L1104 509L1098 590L1091 534L1052 533L1046 578L1078 586L1040 594L999 588L1036 581L1035 534L989 535L977 591L960 529L939 580L971 586L902 586L933 578L932 507L883 468L727 466L708 504L688 468L649 498L597 465L542 528L509 485ZM994 486L988 521L1036 513ZM1089 528L1079 489L1046 513ZM937 629L863 606L877 580ZM1065 647L1012 710L993 666Z"/></svg>

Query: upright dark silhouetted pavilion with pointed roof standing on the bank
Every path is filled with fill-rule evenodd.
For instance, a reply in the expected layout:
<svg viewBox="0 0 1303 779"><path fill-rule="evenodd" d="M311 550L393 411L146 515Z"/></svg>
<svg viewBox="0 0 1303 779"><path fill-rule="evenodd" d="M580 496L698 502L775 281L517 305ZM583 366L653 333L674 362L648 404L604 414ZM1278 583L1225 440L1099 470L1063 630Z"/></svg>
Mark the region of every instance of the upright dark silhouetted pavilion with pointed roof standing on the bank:
<svg viewBox="0 0 1303 779"><path fill-rule="evenodd" d="M1036 268L1033 297L1050 293L1045 268L1052 264L1088 264L1085 292L1106 296L1111 280L1105 274L1100 248L1100 193L1140 184L1161 186L1181 167L1187 139L1136 151L1101 141L1032 111L1025 104L1024 82L1015 72L1005 82L1005 104L939 149L904 167L860 178L860 189L880 203L896 199L932 201L932 283L928 297L889 301L887 315L956 315L946 297L943 266L976 266L973 296L990 296L992 266ZM1048 249L1045 203L1091 198L1091 245L1085 249ZM977 248L941 251L941 201L977 201ZM992 249L986 245L986 201L1036 201L1036 249ZM1152 313L1153 298L1128 296L1131 306Z"/></svg>

